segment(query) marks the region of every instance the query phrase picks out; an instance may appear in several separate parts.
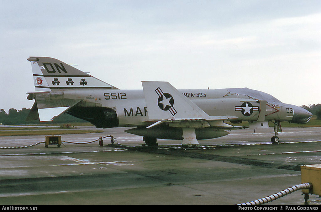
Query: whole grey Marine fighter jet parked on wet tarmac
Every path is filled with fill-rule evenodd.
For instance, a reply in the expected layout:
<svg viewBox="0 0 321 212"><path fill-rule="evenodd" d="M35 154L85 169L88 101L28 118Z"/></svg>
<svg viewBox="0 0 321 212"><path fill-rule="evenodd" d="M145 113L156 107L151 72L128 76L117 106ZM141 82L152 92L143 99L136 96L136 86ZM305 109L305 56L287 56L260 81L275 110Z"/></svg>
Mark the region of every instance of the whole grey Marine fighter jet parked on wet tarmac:
<svg viewBox="0 0 321 212"><path fill-rule="evenodd" d="M68 113L97 128L130 127L147 145L157 138L183 145L221 137L241 127L225 123L248 121L250 128L274 123L273 143L279 142L281 121L307 123L312 114L273 96L248 88L177 90L168 82L143 81L143 90L121 90L72 65L50 57L30 57L35 100L27 120L50 121Z"/></svg>

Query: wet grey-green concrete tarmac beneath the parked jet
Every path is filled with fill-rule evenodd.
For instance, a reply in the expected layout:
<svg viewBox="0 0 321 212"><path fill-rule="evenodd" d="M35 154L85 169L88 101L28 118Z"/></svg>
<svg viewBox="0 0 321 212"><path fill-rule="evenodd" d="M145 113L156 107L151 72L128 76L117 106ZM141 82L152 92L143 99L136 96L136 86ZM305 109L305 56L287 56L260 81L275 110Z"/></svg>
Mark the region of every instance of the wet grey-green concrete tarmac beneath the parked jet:
<svg viewBox="0 0 321 212"><path fill-rule="evenodd" d="M95 130L96 128L87 128ZM263 198L301 183L301 165L321 163L321 128L283 128L280 143L273 128L229 131L200 140L197 148L104 129L104 133L62 135L63 141L0 149L1 205L233 205ZM26 146L45 136L0 137L0 146ZM115 142L116 144L116 142ZM121 145L119 145L121 144ZM304 205L296 191L265 205ZM321 205L310 195L309 205Z"/></svg>

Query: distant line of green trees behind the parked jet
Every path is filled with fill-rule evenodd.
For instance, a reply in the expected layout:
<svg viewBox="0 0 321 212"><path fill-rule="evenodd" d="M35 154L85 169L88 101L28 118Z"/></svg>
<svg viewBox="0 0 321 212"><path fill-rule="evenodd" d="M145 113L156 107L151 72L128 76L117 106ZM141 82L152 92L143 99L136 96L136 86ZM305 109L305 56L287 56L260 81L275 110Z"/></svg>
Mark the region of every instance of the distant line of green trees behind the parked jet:
<svg viewBox="0 0 321 212"><path fill-rule="evenodd" d="M302 105L302 108L310 111L313 115L317 116L317 119L321 119L321 104L309 104ZM4 109L0 110L0 123L3 125L11 125L11 124L40 124L39 120L34 121L26 121L26 118L31 109L22 108L21 110L16 110L14 108L9 109L8 113L5 112ZM73 117L67 113L63 113L58 116L50 123L58 124L58 123L75 123L75 122L87 122L82 119L78 119ZM41 122L43 123L43 122Z"/></svg>

